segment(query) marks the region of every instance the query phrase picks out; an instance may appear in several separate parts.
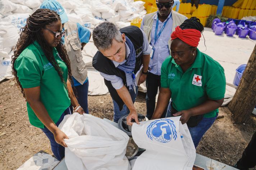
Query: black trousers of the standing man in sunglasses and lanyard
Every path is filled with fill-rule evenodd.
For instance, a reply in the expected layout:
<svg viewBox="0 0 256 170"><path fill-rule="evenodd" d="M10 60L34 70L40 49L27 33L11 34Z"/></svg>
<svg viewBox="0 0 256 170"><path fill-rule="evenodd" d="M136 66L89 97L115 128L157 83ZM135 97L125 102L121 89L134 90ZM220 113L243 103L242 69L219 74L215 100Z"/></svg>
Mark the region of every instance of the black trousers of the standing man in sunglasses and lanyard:
<svg viewBox="0 0 256 170"><path fill-rule="evenodd" d="M148 73L147 79L146 79L146 87L147 87L147 96L146 96L146 106L147 106L147 115L146 117L151 120L153 113L155 111L155 106L156 106L156 94L157 94L157 89L161 88L161 76ZM161 118L165 117L166 114L166 109L161 116Z"/></svg>

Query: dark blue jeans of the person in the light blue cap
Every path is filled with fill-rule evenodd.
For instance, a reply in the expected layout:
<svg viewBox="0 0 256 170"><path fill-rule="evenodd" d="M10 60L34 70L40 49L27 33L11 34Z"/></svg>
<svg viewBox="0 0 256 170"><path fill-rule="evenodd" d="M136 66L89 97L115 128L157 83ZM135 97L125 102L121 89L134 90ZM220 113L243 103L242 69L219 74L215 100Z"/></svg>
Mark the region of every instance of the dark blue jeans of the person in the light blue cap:
<svg viewBox="0 0 256 170"><path fill-rule="evenodd" d="M88 88L89 88L89 80L86 83L80 86L72 87L77 92L77 101L79 105L83 108L85 113L89 113L88 111ZM73 112L73 107L70 105L70 110Z"/></svg>

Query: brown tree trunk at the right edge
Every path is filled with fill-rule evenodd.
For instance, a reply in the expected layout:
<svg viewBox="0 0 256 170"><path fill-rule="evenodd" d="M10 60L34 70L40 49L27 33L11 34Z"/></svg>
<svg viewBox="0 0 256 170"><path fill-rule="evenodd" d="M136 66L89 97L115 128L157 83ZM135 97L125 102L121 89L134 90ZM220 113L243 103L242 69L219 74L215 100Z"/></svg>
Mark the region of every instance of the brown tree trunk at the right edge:
<svg viewBox="0 0 256 170"><path fill-rule="evenodd" d="M228 108L237 123L247 122L256 105L256 45Z"/></svg>

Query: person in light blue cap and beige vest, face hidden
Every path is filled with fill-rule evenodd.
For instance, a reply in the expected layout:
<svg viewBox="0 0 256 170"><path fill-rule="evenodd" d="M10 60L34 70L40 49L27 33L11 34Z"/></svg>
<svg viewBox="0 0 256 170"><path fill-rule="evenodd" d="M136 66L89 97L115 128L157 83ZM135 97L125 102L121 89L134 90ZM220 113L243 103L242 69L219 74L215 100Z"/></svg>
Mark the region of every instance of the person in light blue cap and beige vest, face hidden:
<svg viewBox="0 0 256 170"><path fill-rule="evenodd" d="M61 42L67 50L68 57L71 64L71 73L73 80L73 90L76 93L79 105L73 106L76 112L80 107L88 114L88 86L89 81L87 77L86 64L83 61L82 50L84 45L89 42L91 32L79 23L68 22L68 16L64 8L56 0L45 0L42 2L40 8L50 9L60 15L64 37ZM70 106L70 110L73 111Z"/></svg>

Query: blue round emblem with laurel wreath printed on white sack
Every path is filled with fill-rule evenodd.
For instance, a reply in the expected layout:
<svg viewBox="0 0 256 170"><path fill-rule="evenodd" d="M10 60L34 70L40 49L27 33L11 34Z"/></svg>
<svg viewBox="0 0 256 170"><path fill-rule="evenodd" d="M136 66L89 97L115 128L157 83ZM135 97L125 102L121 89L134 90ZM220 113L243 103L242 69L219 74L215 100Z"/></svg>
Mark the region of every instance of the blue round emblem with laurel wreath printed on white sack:
<svg viewBox="0 0 256 170"><path fill-rule="evenodd" d="M168 118L151 122L147 127L147 137L157 142L168 143L177 139L177 131L174 122Z"/></svg>

